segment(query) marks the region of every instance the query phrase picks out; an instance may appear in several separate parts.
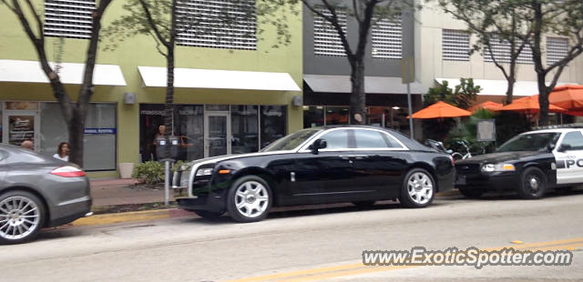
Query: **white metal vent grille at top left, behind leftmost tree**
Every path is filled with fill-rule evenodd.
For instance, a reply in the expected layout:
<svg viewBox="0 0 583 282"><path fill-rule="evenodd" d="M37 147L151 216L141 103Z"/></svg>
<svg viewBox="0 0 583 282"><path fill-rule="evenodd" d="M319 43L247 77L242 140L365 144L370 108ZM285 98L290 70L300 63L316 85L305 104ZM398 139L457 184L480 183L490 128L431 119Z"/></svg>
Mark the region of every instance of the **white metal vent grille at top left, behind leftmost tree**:
<svg viewBox="0 0 583 282"><path fill-rule="evenodd" d="M45 35L90 38L95 0L46 0Z"/></svg>

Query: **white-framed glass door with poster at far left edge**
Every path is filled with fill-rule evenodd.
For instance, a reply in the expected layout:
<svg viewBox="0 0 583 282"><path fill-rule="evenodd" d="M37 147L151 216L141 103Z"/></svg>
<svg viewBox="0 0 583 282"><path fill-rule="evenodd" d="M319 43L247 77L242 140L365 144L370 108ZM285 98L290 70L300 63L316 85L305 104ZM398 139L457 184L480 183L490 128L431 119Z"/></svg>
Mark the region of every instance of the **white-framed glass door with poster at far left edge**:
<svg viewBox="0 0 583 282"><path fill-rule="evenodd" d="M2 139L5 143L20 146L25 141L32 141L35 151L38 151L40 120L36 111L6 110L2 120Z"/></svg>

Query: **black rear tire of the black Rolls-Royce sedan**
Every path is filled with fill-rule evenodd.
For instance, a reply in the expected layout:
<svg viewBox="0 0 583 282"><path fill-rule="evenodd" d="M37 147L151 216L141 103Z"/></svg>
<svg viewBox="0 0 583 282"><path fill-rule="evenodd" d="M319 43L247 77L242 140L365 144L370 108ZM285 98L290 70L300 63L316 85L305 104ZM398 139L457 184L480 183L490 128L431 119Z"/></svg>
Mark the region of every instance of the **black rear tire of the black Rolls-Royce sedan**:
<svg viewBox="0 0 583 282"><path fill-rule="evenodd" d="M411 196L410 189L409 189L409 182L412 180L413 177L417 177L423 175L426 177L426 180L430 182L431 187L421 187L421 189L428 189L424 193L426 196L426 200L423 200L423 197ZM412 186L412 191L417 189L418 187ZM430 190L429 190L430 189ZM422 191L416 191L422 192ZM401 186L401 193L399 194L399 202L404 207L416 208L416 207L425 207L429 206L435 198L435 180L434 177L425 169L423 168L413 168L409 170L403 178L403 185Z"/></svg>

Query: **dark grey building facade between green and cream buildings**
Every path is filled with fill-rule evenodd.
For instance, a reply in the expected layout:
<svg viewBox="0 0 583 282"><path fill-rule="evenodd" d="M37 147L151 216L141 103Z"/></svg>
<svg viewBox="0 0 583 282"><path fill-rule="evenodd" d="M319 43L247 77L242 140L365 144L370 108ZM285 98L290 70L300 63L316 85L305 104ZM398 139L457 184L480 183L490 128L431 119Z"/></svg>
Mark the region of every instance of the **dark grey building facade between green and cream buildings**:
<svg viewBox="0 0 583 282"><path fill-rule="evenodd" d="M347 2L347 5L352 4ZM320 11L324 15L329 13L324 8ZM355 46L358 39L356 20L343 9L337 14L349 43ZM416 60L414 45L414 16L410 13L396 20L384 19L372 26L364 58L367 124L391 127L409 135L401 62L404 58ZM350 73L337 32L321 16L303 7L304 127L349 123ZM410 87L413 108L418 110L427 88L419 81ZM421 136L421 132L416 136Z"/></svg>

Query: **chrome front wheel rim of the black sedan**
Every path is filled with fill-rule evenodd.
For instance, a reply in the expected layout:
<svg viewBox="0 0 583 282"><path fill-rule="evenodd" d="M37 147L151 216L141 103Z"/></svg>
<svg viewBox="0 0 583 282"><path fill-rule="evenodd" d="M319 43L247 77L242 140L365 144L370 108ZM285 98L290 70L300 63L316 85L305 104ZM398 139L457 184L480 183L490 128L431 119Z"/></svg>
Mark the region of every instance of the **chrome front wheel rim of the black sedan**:
<svg viewBox="0 0 583 282"><path fill-rule="evenodd" d="M269 206L269 201L267 188L257 181L244 182L235 191L235 206L245 217L260 217Z"/></svg>

